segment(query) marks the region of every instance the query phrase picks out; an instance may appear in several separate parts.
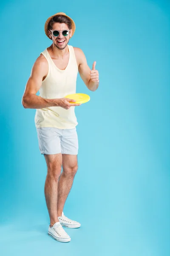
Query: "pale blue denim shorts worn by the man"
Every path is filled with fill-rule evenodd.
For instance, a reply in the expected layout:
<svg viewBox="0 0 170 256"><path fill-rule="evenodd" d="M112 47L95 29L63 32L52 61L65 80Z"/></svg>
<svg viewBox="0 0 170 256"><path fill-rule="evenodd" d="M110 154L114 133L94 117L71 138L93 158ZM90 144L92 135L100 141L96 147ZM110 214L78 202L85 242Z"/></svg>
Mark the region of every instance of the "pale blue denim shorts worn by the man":
<svg viewBox="0 0 170 256"><path fill-rule="evenodd" d="M37 128L37 135L41 154L78 154L76 127L73 129Z"/></svg>

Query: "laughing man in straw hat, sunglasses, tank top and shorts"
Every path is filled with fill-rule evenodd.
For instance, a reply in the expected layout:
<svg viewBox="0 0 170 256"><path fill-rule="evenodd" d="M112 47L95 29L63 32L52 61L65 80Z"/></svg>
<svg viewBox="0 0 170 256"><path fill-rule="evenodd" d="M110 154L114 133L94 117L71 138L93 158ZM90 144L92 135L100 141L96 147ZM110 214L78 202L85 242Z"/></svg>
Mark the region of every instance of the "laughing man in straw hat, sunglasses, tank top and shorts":
<svg viewBox="0 0 170 256"><path fill-rule="evenodd" d="M76 93L78 72L89 90L95 91L99 86L96 62L91 70L82 50L68 45L74 32L75 23L65 13L58 12L48 18L45 34L53 43L35 61L22 98L24 108L36 109L39 148L48 168L45 180L50 217L48 234L61 242L71 241L62 226L80 227L79 222L63 213L78 168L78 123L74 108L80 105L70 103L75 101L65 96Z"/></svg>

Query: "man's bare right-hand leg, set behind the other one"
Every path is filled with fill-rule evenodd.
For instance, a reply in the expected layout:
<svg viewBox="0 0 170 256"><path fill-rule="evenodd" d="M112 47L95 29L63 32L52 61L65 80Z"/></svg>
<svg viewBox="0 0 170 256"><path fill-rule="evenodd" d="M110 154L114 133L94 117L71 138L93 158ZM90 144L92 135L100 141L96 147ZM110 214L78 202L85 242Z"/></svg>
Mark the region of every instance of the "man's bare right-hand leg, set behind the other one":
<svg viewBox="0 0 170 256"><path fill-rule="evenodd" d="M58 183L57 215L61 216L78 169L77 155L62 154L63 172Z"/></svg>

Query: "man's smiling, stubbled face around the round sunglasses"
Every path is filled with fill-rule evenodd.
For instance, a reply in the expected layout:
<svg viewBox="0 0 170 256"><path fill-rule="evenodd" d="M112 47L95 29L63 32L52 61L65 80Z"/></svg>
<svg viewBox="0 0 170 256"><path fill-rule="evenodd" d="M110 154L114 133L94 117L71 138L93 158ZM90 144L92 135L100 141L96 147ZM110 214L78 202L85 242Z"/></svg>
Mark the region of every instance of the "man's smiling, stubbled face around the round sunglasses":
<svg viewBox="0 0 170 256"><path fill-rule="evenodd" d="M54 23L52 30L58 30L58 31L63 31L63 30L68 30L68 26L65 23ZM68 42L69 39L71 38L71 31L68 33L67 36L63 36L62 32L59 33L59 36L55 37L51 31L48 31L50 38L53 41L53 44L60 50L64 49Z"/></svg>

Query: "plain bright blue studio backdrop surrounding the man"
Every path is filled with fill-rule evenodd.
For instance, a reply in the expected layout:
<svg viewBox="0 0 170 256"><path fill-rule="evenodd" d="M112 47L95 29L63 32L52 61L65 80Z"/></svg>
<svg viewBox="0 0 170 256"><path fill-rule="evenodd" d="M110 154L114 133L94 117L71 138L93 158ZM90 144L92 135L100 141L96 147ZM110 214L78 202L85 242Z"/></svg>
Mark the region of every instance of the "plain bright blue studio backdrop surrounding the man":
<svg viewBox="0 0 170 256"><path fill-rule="evenodd" d="M76 23L69 44L96 61L100 84L77 92L79 170L65 215L70 243L48 236L34 109L21 104L31 67L51 45L46 19ZM0 253L17 255L170 255L170 4L167 0L0 3Z"/></svg>

